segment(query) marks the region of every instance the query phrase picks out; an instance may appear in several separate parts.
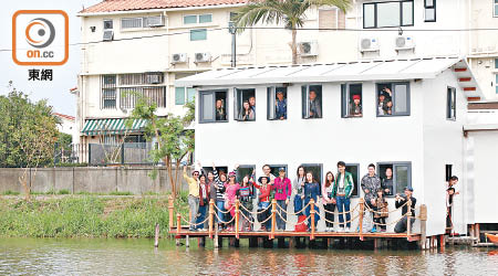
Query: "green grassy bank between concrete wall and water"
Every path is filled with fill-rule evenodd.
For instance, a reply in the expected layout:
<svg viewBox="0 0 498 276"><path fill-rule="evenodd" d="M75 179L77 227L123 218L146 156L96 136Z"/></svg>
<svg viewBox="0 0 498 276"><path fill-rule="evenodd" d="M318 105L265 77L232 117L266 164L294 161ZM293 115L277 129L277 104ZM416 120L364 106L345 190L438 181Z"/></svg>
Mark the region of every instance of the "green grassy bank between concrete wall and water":
<svg viewBox="0 0 498 276"><path fill-rule="evenodd" d="M179 203L178 210L188 215L188 205ZM0 236L153 237L156 223L167 236L168 217L164 198L7 199L0 201Z"/></svg>

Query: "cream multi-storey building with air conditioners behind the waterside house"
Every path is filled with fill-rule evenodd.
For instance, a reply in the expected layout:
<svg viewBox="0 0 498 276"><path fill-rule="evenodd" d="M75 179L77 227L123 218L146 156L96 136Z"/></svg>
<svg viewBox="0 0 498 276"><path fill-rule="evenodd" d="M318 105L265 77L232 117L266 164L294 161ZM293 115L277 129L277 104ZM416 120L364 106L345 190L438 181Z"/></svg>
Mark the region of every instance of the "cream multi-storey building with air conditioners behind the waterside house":
<svg viewBox="0 0 498 276"><path fill-rule="evenodd" d="M299 63L466 56L483 93L491 97L498 77L496 31L455 30L496 25L494 1L357 0L346 14L335 8L310 9L305 30L298 32ZM151 97L159 115L183 114L194 89L175 86L175 79L230 66L232 38L227 28L246 3L113 0L81 11L80 142L98 141L95 126L102 124L95 123L122 125L134 108L131 91ZM290 64L290 41L283 28L246 30L237 35L237 64ZM139 127L128 136L129 141L143 140Z"/></svg>

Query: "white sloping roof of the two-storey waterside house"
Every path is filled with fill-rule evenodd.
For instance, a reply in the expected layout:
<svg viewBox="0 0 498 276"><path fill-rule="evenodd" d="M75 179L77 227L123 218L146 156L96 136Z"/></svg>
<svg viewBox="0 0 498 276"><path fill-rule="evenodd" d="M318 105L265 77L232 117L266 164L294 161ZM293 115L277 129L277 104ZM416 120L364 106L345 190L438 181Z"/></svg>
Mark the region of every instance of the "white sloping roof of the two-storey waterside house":
<svg viewBox="0 0 498 276"><path fill-rule="evenodd" d="M468 64L459 57L432 57L289 66L220 68L175 81L176 86L236 86L284 83L333 83L435 78L453 67L467 97L481 92ZM465 81L465 82L464 82Z"/></svg>

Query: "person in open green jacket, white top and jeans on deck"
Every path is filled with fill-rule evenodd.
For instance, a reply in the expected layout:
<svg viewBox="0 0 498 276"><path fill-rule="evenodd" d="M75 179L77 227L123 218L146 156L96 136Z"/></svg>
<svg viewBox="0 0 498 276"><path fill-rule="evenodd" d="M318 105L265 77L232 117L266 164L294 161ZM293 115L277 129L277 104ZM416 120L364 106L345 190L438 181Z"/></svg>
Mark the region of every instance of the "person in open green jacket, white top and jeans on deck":
<svg viewBox="0 0 498 276"><path fill-rule="evenodd" d="M351 229L351 214L350 214L350 198L354 190L353 177L350 172L345 171L344 161L338 162L338 176L334 181L333 197L338 204L339 212L339 232L350 232ZM344 214L346 212L344 222ZM345 224L345 225L344 225ZM344 229L345 226L345 229Z"/></svg>

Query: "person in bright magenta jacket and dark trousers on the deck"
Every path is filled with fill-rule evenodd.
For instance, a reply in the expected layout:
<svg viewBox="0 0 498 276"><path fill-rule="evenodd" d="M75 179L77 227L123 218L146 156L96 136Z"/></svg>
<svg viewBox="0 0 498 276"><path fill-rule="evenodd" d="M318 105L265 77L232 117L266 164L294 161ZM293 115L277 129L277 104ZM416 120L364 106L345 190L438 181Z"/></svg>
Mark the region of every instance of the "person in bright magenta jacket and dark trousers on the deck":
<svg viewBox="0 0 498 276"><path fill-rule="evenodd" d="M287 220L287 205L289 204L290 195L292 194L292 184L290 179L286 177L286 168L279 168L279 177L274 179L271 189L276 191L274 199L277 200L277 204L280 206L278 209L280 215L277 214L277 229L284 231Z"/></svg>

